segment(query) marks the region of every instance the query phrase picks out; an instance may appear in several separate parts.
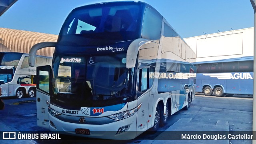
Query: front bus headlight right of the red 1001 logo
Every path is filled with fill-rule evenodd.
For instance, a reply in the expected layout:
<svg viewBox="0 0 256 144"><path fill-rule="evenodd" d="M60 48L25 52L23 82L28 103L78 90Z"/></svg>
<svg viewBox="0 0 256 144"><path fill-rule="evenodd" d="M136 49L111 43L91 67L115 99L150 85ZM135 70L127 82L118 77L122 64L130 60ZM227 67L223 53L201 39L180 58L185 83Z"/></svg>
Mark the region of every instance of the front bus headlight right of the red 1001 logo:
<svg viewBox="0 0 256 144"><path fill-rule="evenodd" d="M138 111L138 109L140 109L140 107L141 107L141 104L139 106L137 106L136 108L132 109L132 110L128 110L128 111L125 111L125 112L120 112L118 114L112 114L108 117L113 119L113 120L122 120L124 118L128 118L128 117L133 116L134 114L136 114L136 112Z"/></svg>

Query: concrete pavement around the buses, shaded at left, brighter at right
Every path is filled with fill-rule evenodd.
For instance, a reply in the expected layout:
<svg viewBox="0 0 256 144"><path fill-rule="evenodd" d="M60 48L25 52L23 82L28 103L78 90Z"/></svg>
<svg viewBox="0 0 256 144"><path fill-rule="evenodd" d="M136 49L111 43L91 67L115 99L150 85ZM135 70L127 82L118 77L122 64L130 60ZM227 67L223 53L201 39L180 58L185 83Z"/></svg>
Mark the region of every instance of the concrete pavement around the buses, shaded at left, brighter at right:
<svg viewBox="0 0 256 144"><path fill-rule="evenodd" d="M23 122L18 122L15 124L14 121L10 120L12 124L9 124L9 118L14 117L18 119L18 117L8 115L3 117L0 111L0 131L25 131L25 130L34 130L31 128L32 126L36 127L35 110L24 110L26 105L29 103L35 103L36 98L24 98L24 99L11 99L6 101L6 111L8 114L14 113L12 111L14 108L18 108L17 106L23 106L22 110L18 110L16 113L20 114L21 111L24 111L24 114L20 114ZM208 144L208 143L218 143L218 144L240 144L246 143L251 144L251 140L172 140L174 137L174 132L177 132L180 136L179 132L196 132L199 135L204 132L215 131L215 132L230 132L237 130L251 131L251 122L252 122L252 110L251 110L251 99L219 99L214 97L197 97L195 101L192 103L190 109L188 111L181 110L176 114L170 117L170 126L164 130L161 134L156 136L154 139L134 139L122 143L141 143L141 144ZM245 106L245 107L240 107ZM12 110L10 109L12 108ZM234 110L232 110L234 109ZM29 118L29 119L28 119ZM25 122L33 124L24 124ZM172 123L173 122L173 123ZM40 129L37 128L40 131ZM57 142L57 141L54 141ZM62 141L63 142L63 141ZM86 142L86 140L81 141L81 143ZM1 144L34 144L34 143L43 143L38 142L36 140L0 140ZM57 142L59 143L59 142ZM61 142L60 142L61 143ZM77 142L76 142L77 143ZM78 142L79 143L79 142ZM120 142L121 143L121 142Z"/></svg>

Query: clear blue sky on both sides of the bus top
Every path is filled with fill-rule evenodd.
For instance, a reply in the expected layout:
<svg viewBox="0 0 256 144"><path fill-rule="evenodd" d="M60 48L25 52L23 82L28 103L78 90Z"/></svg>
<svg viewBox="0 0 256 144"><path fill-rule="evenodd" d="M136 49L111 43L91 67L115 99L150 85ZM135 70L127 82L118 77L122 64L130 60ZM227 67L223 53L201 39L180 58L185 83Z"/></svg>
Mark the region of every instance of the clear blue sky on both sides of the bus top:
<svg viewBox="0 0 256 144"><path fill-rule="evenodd" d="M0 27L59 34L72 9L116 0L18 0L2 16ZM182 38L254 26L250 0L140 0L153 6Z"/></svg>

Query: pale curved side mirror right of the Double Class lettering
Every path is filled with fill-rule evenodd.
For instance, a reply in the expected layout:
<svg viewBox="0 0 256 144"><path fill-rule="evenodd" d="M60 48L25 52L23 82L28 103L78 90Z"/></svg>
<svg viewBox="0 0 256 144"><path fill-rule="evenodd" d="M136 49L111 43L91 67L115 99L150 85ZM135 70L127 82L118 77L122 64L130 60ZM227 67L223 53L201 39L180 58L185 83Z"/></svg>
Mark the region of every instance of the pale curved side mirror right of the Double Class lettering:
<svg viewBox="0 0 256 144"><path fill-rule="evenodd" d="M137 55L138 55L138 51L140 50L140 47L144 44L149 44L150 42L151 42L150 40L147 40L144 38L138 38L129 45L126 53L126 68L135 67Z"/></svg>

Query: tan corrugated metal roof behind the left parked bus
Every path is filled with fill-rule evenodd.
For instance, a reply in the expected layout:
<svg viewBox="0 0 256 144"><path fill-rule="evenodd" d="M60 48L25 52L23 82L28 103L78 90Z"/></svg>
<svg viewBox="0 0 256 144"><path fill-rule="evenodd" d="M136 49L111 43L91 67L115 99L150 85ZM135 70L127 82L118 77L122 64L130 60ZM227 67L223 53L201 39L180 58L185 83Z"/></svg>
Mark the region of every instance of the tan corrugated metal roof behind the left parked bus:
<svg viewBox="0 0 256 144"><path fill-rule="evenodd" d="M58 35L40 32L29 32L0 28L0 52L28 53L30 48L39 42L56 42ZM54 47L43 48L37 51L37 55L52 56Z"/></svg>

